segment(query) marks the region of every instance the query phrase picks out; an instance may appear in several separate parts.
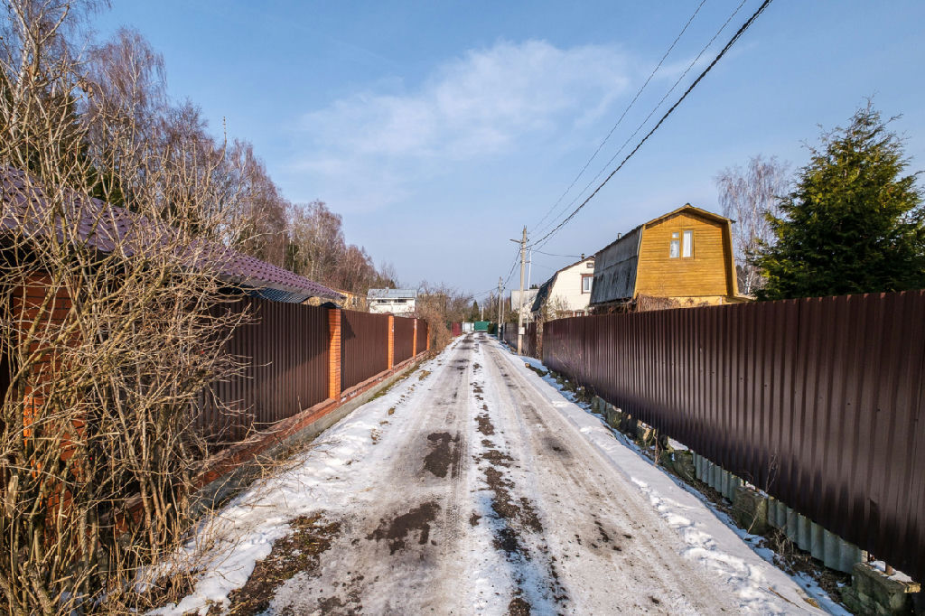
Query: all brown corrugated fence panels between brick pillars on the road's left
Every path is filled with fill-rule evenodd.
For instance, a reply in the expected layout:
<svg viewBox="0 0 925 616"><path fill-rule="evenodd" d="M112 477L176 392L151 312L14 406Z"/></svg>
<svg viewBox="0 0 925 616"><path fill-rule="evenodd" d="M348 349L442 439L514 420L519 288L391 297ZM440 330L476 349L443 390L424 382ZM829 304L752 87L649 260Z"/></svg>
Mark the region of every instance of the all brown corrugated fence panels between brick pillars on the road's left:
<svg viewBox="0 0 925 616"><path fill-rule="evenodd" d="M248 311L228 353L244 368L203 394L197 425L209 440L228 444L327 400L330 378L328 309L248 297L220 304L218 312ZM388 370L388 314L340 311L340 385L351 388ZM427 324L418 320L418 350ZM414 319L395 317L394 363L413 355Z"/></svg>

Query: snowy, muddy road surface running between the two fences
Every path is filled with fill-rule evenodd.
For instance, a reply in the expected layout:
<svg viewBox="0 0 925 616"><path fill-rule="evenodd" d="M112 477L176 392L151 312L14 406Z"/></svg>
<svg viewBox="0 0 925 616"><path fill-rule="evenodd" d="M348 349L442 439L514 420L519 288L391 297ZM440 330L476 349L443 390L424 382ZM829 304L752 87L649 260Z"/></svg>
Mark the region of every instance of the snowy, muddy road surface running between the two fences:
<svg viewBox="0 0 925 616"><path fill-rule="evenodd" d="M269 613L822 613L709 507L484 335L339 422L191 545L223 603L321 513L338 535ZM206 544L207 545L204 545Z"/></svg>

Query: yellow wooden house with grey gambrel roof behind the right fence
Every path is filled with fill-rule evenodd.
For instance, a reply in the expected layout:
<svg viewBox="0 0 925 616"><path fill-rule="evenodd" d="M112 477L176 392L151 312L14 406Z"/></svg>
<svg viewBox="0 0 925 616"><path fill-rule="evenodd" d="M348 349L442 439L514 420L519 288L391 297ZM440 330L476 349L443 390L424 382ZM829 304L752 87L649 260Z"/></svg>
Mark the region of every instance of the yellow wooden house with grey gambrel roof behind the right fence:
<svg viewBox="0 0 925 616"><path fill-rule="evenodd" d="M641 298L660 307L743 302L738 294L733 221L686 203L598 251L593 312L633 309Z"/></svg>

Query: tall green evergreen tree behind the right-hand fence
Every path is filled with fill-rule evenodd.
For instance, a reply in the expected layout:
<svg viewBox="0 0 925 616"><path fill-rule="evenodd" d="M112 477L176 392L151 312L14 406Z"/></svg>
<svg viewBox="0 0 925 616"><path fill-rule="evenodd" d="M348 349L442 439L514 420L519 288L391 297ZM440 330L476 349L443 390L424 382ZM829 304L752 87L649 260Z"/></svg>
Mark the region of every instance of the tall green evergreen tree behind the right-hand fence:
<svg viewBox="0 0 925 616"><path fill-rule="evenodd" d="M810 147L753 257L762 300L925 288L925 208L902 141L869 104Z"/></svg>

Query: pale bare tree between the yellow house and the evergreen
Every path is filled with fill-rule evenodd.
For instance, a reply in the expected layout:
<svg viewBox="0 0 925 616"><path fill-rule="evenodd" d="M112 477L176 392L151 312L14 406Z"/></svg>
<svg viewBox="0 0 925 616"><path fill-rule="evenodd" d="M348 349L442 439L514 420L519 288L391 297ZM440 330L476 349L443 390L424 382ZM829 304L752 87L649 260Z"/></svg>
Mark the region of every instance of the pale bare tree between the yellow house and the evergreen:
<svg viewBox="0 0 925 616"><path fill-rule="evenodd" d="M722 214L735 220L733 247L738 285L746 295L761 288L761 275L752 264L752 256L761 242L773 240L768 216L780 214L779 203L790 181L789 167L775 156L764 159L759 154L748 160L745 169L727 167L715 178Z"/></svg>

